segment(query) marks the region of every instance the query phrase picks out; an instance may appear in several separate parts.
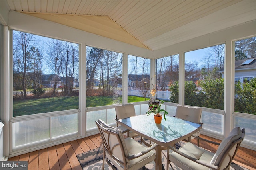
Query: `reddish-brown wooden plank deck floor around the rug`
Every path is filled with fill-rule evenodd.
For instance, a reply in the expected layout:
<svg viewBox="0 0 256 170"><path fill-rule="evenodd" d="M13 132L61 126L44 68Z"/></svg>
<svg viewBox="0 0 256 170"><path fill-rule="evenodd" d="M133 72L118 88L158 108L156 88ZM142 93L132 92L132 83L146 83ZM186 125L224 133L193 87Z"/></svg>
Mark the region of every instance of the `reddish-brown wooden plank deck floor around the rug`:
<svg viewBox="0 0 256 170"><path fill-rule="evenodd" d="M200 137L220 142L218 139L213 139L205 135L200 135ZM192 142L196 143L196 140L193 139ZM81 170L82 168L76 155L96 149L101 145L100 135L97 134L15 156L9 158L9 160L28 161L28 170ZM200 142L200 147L213 152L216 152L218 148L218 146L209 145L204 142ZM256 151L240 147L233 162L250 170L256 170Z"/></svg>

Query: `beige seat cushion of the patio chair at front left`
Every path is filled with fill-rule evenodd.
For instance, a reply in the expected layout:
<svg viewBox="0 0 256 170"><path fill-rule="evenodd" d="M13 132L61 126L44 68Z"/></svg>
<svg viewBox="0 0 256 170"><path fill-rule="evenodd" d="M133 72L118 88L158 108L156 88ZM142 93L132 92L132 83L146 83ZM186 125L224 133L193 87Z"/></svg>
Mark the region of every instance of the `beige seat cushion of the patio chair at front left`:
<svg viewBox="0 0 256 170"><path fill-rule="evenodd" d="M143 150L146 150L147 147L144 147L131 137L128 137L125 139L126 148L128 150L129 155L137 154ZM150 151L147 154L144 154L143 156L140 156L138 158L135 158L133 160L130 160L128 163L128 169L129 170L138 170L139 168L142 168L145 164L148 162L151 162L155 159L155 152Z"/></svg>

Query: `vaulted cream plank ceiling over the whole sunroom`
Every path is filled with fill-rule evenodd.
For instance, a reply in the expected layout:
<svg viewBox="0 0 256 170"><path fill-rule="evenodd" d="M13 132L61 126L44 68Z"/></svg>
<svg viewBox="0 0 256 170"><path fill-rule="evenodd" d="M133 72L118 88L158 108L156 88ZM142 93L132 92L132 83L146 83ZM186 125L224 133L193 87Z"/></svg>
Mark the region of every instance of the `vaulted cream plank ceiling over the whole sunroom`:
<svg viewBox="0 0 256 170"><path fill-rule="evenodd" d="M10 10L151 50L256 20L256 0L6 0Z"/></svg>

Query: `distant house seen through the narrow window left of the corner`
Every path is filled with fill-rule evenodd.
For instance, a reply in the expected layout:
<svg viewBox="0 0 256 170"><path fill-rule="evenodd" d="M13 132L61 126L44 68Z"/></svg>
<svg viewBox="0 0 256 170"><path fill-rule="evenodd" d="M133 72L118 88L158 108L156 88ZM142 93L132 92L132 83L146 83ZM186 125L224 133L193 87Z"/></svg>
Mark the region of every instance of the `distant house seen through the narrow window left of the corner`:
<svg viewBox="0 0 256 170"><path fill-rule="evenodd" d="M142 87L144 85L144 82L150 83L150 75L128 75L128 87Z"/></svg>

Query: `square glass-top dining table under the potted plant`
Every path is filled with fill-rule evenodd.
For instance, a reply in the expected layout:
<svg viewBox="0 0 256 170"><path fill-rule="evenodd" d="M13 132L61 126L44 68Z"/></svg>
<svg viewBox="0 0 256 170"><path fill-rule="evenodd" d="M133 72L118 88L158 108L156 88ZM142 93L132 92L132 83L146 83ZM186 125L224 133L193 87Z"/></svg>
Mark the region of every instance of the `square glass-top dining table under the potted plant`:
<svg viewBox="0 0 256 170"><path fill-rule="evenodd" d="M162 170L162 147L173 146L178 141L189 139L191 135L202 128L201 124L170 116L166 116L166 121L163 118L161 124L156 124L153 114L119 119L118 123L158 144L158 147L156 147L156 169L158 170Z"/></svg>

